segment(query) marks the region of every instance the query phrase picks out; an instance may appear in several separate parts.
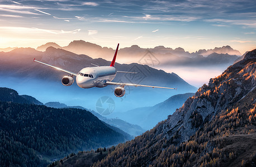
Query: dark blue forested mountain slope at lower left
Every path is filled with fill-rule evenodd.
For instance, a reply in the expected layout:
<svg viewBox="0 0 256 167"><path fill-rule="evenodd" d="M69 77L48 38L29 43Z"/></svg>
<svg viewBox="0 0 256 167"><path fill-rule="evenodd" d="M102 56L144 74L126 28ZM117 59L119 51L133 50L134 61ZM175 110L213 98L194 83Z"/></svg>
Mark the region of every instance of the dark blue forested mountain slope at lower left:
<svg viewBox="0 0 256 167"><path fill-rule="evenodd" d="M45 166L58 156L127 140L89 111L34 105L15 90L0 92L0 166Z"/></svg>

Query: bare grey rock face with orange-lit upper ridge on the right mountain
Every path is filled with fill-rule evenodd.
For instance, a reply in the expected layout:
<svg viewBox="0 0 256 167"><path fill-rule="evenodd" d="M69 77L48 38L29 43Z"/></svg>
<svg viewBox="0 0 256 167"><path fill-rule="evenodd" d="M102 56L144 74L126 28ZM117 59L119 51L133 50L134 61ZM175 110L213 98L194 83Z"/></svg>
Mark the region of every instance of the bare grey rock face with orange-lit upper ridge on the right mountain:
<svg viewBox="0 0 256 167"><path fill-rule="evenodd" d="M203 125L231 106L246 106L246 100L256 99L256 50L230 66L208 85L198 89L183 106L168 116L162 132L173 143L187 141ZM248 101L247 101L248 102ZM161 130L159 130L160 132Z"/></svg>

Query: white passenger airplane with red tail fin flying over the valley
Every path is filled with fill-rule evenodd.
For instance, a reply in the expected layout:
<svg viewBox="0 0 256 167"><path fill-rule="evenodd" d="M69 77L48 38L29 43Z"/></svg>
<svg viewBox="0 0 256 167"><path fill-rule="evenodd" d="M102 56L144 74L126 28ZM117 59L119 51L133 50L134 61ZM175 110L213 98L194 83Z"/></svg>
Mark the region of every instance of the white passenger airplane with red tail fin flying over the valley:
<svg viewBox="0 0 256 167"><path fill-rule="evenodd" d="M157 88L163 88L163 89L176 89L176 88L162 87L162 86L149 86L149 85L125 84L125 83L112 82L113 78L116 77L116 72L126 72L126 71L117 71L115 68L118 47L119 47L119 43L117 45L116 52L110 66L94 65L96 67L86 67L80 70L78 73L71 72L68 70L63 70L59 67L55 67L41 61L37 61L35 60L36 58L34 58L34 62L39 62L39 63L42 63L43 65L50 66L57 70L69 73L68 76L64 76L61 79L61 83L64 86L72 85L74 83L74 76L76 76L77 85L84 89L88 89L91 87L105 87L107 85L118 85L114 91L114 94L116 97L122 97L125 95L125 88L124 88L125 86L136 86L136 87L143 86L143 87L153 87L153 88L157 87ZM127 73L136 73L136 72L127 72Z"/></svg>

